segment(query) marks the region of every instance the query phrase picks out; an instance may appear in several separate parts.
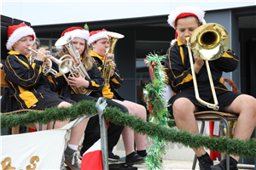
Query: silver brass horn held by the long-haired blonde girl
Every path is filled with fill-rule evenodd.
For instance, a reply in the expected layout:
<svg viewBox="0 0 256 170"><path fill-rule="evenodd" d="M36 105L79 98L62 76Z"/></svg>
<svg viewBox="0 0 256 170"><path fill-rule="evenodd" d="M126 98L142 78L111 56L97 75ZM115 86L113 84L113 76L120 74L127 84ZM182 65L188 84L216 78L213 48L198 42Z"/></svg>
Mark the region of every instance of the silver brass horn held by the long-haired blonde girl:
<svg viewBox="0 0 256 170"><path fill-rule="evenodd" d="M69 77L79 77L78 73L80 73L81 77L83 77L84 79L90 80L90 76L85 70L83 63L80 60L79 52L73 48L73 42L72 42L73 38L74 38L73 35L63 36L59 38L57 42L55 42L55 46L65 46L65 48L67 48L70 54L70 55L66 54L65 56L70 57L74 61L74 64L72 65L69 71L70 72ZM67 80L66 75L63 74L63 77L65 77L65 79ZM72 88L72 89L75 94L79 93L79 94L89 95L91 93L91 91L87 90L86 88Z"/></svg>

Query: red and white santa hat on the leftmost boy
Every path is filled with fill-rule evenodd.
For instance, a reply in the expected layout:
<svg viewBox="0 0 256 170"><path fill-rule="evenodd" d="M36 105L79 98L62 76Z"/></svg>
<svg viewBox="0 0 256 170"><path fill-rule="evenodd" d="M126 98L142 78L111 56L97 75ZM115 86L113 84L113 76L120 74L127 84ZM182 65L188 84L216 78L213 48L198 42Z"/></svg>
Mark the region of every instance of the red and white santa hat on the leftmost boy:
<svg viewBox="0 0 256 170"><path fill-rule="evenodd" d="M12 50L12 46L15 42L18 42L21 37L31 36L33 42L36 40L36 33L30 26L26 26L24 23L20 23L15 26L8 26L7 30L8 40L6 42L6 48Z"/></svg>

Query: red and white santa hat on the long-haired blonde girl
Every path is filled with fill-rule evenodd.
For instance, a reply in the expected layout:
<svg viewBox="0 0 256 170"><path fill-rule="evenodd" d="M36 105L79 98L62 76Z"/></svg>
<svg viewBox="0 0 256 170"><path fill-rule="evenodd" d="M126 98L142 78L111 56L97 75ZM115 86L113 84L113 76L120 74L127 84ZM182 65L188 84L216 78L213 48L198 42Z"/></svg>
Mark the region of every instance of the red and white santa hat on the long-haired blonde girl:
<svg viewBox="0 0 256 170"><path fill-rule="evenodd" d="M85 39L87 42L89 40L89 31L88 30L84 30L81 27L78 26L73 26L70 28L67 28L67 30L63 31L61 34L61 37L63 36L74 36L74 37L79 37L79 38L83 38ZM57 46L56 47L59 51L61 51L62 46Z"/></svg>

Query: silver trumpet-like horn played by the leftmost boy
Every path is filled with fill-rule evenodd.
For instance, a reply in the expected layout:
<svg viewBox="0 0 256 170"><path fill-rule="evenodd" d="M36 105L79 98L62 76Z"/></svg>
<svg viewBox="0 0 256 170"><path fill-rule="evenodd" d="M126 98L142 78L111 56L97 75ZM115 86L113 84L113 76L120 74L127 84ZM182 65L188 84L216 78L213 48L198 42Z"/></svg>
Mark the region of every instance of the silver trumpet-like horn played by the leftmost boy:
<svg viewBox="0 0 256 170"><path fill-rule="evenodd" d="M28 48L29 50L32 51L32 53L36 53L38 54L38 51L32 49L32 48ZM66 74L68 71L70 71L73 62L72 59L66 59L67 56L62 56L61 59L56 59L55 57L51 56L50 59L48 59L49 61L49 66L43 64L42 65L42 72L44 73L44 76L46 76L48 73L53 74L54 76L58 75L58 72L55 71L54 69L52 69L52 60L59 66L59 71L61 72L61 74ZM32 57L32 54L30 54L30 64L32 65L32 63L34 62L34 60L36 59L36 57Z"/></svg>

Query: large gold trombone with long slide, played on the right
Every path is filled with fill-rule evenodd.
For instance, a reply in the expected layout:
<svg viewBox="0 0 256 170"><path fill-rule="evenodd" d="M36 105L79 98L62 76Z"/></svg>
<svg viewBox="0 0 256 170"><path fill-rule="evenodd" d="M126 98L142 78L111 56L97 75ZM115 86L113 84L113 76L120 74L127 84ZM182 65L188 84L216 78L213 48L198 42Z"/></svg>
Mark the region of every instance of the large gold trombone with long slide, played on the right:
<svg viewBox="0 0 256 170"><path fill-rule="evenodd" d="M186 41L189 49L189 61L195 88L195 99L197 99L202 105L206 105L208 108L218 111L218 99L212 82L212 74L208 60L218 59L228 50L230 46L229 33L224 29L223 26L215 23L209 23L198 27L192 34L191 38L186 37ZM214 104L202 100L199 96L191 49L197 57L204 59L206 62Z"/></svg>

